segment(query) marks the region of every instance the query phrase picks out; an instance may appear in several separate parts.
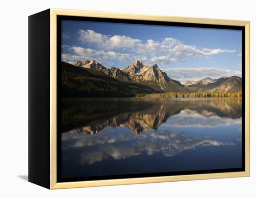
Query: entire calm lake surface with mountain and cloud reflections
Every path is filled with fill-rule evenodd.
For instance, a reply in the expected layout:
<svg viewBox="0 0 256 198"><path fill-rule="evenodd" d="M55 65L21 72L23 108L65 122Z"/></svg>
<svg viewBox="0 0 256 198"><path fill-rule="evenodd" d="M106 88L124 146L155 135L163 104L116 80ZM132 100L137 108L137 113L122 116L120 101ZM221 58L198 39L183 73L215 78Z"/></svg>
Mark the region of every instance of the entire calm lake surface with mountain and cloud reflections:
<svg viewBox="0 0 256 198"><path fill-rule="evenodd" d="M63 99L61 177L242 167L242 99Z"/></svg>

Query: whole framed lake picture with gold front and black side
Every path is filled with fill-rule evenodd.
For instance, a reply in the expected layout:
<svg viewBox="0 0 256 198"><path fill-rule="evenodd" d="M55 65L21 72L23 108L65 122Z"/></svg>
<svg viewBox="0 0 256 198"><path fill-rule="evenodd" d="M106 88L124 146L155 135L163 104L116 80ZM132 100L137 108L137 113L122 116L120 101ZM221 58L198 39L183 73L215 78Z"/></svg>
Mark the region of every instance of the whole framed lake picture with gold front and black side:
<svg viewBox="0 0 256 198"><path fill-rule="evenodd" d="M29 16L29 181L249 176L249 21Z"/></svg>

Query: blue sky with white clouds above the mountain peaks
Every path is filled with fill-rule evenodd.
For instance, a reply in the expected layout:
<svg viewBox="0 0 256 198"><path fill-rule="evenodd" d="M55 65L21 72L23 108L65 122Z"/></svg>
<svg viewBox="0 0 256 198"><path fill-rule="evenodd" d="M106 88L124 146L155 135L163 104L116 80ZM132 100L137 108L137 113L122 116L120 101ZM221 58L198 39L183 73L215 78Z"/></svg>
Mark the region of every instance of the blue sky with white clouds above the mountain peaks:
<svg viewBox="0 0 256 198"><path fill-rule="evenodd" d="M63 20L62 60L157 64L172 79L242 75L242 31Z"/></svg>

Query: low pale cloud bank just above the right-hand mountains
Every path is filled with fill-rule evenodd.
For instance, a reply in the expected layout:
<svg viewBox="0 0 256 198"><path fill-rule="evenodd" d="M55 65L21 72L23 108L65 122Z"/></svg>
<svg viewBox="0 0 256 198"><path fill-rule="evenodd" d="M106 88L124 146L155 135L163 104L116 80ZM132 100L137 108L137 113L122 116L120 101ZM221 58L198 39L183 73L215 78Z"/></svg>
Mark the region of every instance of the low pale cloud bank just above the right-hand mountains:
<svg viewBox="0 0 256 198"><path fill-rule="evenodd" d="M168 68L162 69L171 79L176 79L181 82L191 79L200 80L206 77L211 77L213 79L218 79L221 77L229 76L242 76L242 71L234 71L229 69L220 69L216 67L198 67L198 68Z"/></svg>

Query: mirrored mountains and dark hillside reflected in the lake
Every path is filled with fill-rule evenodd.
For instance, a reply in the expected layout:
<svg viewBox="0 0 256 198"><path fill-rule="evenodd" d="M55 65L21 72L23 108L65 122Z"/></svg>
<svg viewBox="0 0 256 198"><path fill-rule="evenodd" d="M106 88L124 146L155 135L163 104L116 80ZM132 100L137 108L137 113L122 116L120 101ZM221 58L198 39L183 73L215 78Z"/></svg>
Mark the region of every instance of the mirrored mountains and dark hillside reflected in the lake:
<svg viewBox="0 0 256 198"><path fill-rule="evenodd" d="M74 129L79 133L92 134L106 126L127 127L136 134L157 129L175 114L241 118L242 99L173 100L173 99L74 99L64 100L62 108L62 131ZM189 117L183 124L195 125L197 118ZM181 121L181 120L180 120ZM210 121L210 122L209 122ZM224 121L224 120L223 120ZM211 119L215 126L223 122Z"/></svg>

